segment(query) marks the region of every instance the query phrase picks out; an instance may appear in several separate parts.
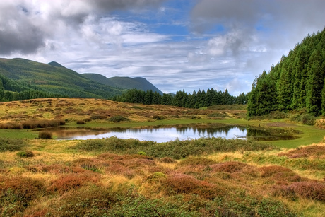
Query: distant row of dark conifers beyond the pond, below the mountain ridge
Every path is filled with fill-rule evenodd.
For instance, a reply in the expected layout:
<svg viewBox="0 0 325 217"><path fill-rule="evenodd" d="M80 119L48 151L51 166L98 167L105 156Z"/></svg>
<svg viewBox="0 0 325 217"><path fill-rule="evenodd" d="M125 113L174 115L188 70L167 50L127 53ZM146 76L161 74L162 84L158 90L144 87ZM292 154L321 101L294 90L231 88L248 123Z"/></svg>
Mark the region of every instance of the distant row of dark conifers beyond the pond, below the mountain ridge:
<svg viewBox="0 0 325 217"><path fill-rule="evenodd" d="M232 105L232 104L246 104L247 94L233 96L225 92L213 90L194 90L193 93L186 93L184 90L179 90L175 95L164 93L160 95L153 90L137 90L131 89L124 92L122 95L112 98L114 101L142 103L145 105L175 105L179 107L199 108L208 107L212 105Z"/></svg>

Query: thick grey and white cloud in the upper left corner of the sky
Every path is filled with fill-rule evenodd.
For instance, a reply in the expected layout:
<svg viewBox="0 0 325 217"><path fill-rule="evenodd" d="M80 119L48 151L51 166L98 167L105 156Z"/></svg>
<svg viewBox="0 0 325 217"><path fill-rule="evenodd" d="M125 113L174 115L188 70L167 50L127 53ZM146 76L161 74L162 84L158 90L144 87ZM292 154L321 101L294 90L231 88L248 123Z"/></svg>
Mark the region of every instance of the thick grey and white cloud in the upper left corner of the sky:
<svg viewBox="0 0 325 217"><path fill-rule="evenodd" d="M36 53L49 45L51 40L78 33L93 42L105 42L96 34L95 28L103 27L94 25L96 19L114 10L140 10L158 6L161 2L162 0L1 1L0 54ZM123 27L118 22L114 24L105 30L109 41L118 44L117 36ZM129 37L126 37L127 40Z"/></svg>

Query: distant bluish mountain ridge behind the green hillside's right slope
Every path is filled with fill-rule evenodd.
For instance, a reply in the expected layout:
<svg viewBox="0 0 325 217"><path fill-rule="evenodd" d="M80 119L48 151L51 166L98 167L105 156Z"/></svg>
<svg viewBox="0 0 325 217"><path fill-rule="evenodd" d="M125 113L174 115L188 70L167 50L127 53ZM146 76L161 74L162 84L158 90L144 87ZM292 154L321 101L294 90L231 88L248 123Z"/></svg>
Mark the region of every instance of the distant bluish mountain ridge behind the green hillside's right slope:
<svg viewBox="0 0 325 217"><path fill-rule="evenodd" d="M107 78L102 76L101 74L82 74L86 78L89 78L93 81L97 81L98 83L105 84L107 86L125 88L125 89L138 89L138 90L153 90L153 92L158 92L162 95L162 91L156 88L152 83L146 80L146 78L129 78L129 77L112 77Z"/></svg>

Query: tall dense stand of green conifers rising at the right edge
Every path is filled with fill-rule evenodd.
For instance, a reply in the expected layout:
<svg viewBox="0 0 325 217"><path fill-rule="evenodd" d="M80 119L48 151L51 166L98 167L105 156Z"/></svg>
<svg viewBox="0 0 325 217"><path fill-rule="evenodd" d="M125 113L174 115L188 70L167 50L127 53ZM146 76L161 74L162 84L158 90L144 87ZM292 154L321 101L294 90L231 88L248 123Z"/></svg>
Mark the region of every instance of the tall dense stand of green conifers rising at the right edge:
<svg viewBox="0 0 325 217"><path fill-rule="evenodd" d="M247 102L249 117L278 110L306 110L325 115L325 28L307 35L283 56L276 66L264 71L252 84Z"/></svg>

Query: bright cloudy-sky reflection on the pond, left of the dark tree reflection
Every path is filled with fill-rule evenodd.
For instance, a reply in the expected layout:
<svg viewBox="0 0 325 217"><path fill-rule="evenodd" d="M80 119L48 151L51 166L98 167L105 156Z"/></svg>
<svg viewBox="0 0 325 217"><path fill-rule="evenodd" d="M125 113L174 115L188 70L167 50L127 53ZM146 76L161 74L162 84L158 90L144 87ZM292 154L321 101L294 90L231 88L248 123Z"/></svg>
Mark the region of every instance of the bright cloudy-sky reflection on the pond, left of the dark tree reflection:
<svg viewBox="0 0 325 217"><path fill-rule="evenodd" d="M235 136L246 136L247 131L242 127L221 128L195 128L195 127L171 127L171 128L150 128L150 129L110 129L110 131L76 131L76 134L60 134L56 132L58 139L102 139L117 136L120 139L139 139L144 141L165 142L175 139L198 139L200 137L223 137L233 139Z"/></svg>

